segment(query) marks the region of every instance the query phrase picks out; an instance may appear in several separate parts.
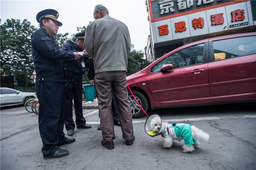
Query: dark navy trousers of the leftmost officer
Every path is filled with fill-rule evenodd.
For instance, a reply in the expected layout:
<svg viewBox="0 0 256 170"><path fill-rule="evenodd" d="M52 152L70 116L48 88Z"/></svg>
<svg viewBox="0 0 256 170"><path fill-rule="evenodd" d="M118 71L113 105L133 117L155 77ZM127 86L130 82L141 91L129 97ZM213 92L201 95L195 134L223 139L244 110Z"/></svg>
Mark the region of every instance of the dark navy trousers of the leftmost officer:
<svg viewBox="0 0 256 170"><path fill-rule="evenodd" d="M49 156L59 149L57 144L65 142L64 127L64 89L61 82L36 82L36 95L39 99L39 132L42 139L42 152Z"/></svg>

